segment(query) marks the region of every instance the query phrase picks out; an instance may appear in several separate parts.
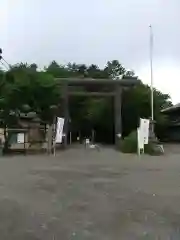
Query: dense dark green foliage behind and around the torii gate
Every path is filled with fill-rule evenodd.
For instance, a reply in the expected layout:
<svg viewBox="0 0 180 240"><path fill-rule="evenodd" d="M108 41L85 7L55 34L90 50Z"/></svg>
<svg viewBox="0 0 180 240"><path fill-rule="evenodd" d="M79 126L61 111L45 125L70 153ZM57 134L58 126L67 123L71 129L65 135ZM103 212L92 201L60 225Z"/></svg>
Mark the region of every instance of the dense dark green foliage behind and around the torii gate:
<svg viewBox="0 0 180 240"><path fill-rule="evenodd" d="M48 123L61 109L61 89L56 78L108 78L110 81L133 77L133 71L127 71L117 60L109 61L104 68L95 64L69 63L66 66L53 61L44 70L38 70L36 64L17 64L9 71L0 72L0 119L7 126L16 121L20 113L36 112ZM93 90L96 86L93 86ZM169 95L154 89L155 119L158 129L165 122L160 114L162 108L171 105ZM113 99L72 97L70 99L71 130L89 135L96 132L96 140L113 141L114 115ZM123 136L136 129L139 117L150 117L150 88L141 83L135 88L124 89L122 95ZM61 114L61 112L60 112ZM157 129L157 130L158 130ZM75 136L75 135L73 135Z"/></svg>

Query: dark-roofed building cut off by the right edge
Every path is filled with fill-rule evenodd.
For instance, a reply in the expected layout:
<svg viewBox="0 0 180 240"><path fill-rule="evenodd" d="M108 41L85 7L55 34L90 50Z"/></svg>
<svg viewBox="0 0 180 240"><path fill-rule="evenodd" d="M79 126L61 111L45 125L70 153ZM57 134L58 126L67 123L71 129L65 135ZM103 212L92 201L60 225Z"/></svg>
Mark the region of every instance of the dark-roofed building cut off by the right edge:
<svg viewBox="0 0 180 240"><path fill-rule="evenodd" d="M172 107L165 108L161 112L169 119L169 123L164 134L164 140L180 142L180 103Z"/></svg>

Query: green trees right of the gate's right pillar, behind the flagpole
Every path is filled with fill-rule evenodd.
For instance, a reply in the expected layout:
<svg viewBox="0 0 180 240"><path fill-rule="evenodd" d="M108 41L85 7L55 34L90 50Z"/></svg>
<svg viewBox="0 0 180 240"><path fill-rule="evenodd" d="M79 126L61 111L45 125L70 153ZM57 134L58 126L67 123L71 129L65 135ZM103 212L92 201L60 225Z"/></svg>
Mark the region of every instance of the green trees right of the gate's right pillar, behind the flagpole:
<svg viewBox="0 0 180 240"><path fill-rule="evenodd" d="M123 91L122 96L122 122L123 135L128 135L139 126L139 118L151 117L151 89L148 85L139 86ZM169 95L160 93L154 89L154 118L161 126L165 118L161 110L165 105L172 104Z"/></svg>

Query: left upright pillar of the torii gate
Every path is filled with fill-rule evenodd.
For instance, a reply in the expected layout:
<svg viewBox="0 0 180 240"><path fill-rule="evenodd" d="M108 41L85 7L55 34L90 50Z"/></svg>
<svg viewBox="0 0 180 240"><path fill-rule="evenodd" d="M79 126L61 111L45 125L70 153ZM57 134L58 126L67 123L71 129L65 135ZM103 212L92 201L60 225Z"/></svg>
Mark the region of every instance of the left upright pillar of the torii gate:
<svg viewBox="0 0 180 240"><path fill-rule="evenodd" d="M64 147L68 145L68 133L69 133L69 95L68 95L68 84L65 83L63 86L63 111L64 111Z"/></svg>

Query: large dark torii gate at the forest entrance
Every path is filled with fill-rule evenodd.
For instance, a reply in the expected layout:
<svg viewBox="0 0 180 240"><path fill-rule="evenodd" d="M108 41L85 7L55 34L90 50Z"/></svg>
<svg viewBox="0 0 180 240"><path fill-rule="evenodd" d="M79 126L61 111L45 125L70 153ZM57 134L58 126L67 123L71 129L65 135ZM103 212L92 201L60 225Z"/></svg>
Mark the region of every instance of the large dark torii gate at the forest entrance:
<svg viewBox="0 0 180 240"><path fill-rule="evenodd" d="M68 145L69 133L69 96L96 96L96 97L114 97L114 125L115 125L115 145L118 147L122 134L121 121L121 94L122 88L129 88L139 84L137 78L125 78L121 80L111 79L88 79L88 78L58 78L58 84L62 87L63 109L64 109L64 133L65 147ZM98 92L79 90L78 87L98 87Z"/></svg>

